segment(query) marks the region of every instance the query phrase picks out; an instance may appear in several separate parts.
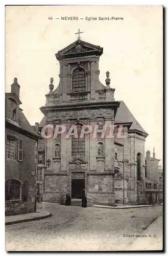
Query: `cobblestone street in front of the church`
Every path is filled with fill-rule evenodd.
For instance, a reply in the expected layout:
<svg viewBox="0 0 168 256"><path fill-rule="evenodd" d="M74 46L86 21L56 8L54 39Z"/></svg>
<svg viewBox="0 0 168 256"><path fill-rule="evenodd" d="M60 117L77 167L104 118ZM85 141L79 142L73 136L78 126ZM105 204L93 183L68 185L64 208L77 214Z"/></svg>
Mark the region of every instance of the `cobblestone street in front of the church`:
<svg viewBox="0 0 168 256"><path fill-rule="evenodd" d="M7 251L124 250L162 215L162 206L107 209L43 203L53 217L6 226Z"/></svg>

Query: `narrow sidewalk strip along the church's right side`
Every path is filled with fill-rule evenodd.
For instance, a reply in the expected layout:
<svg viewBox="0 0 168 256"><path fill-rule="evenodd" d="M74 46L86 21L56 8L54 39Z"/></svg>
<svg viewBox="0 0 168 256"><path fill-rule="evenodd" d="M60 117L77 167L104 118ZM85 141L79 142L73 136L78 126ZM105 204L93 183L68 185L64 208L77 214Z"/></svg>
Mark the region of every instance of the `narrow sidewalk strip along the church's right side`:
<svg viewBox="0 0 168 256"><path fill-rule="evenodd" d="M153 207L153 206L162 206L162 204L121 204L116 206L108 206L108 205L97 205L93 204L90 207L98 207L98 208L112 208L112 209L129 209L129 208L141 208L141 207Z"/></svg>

